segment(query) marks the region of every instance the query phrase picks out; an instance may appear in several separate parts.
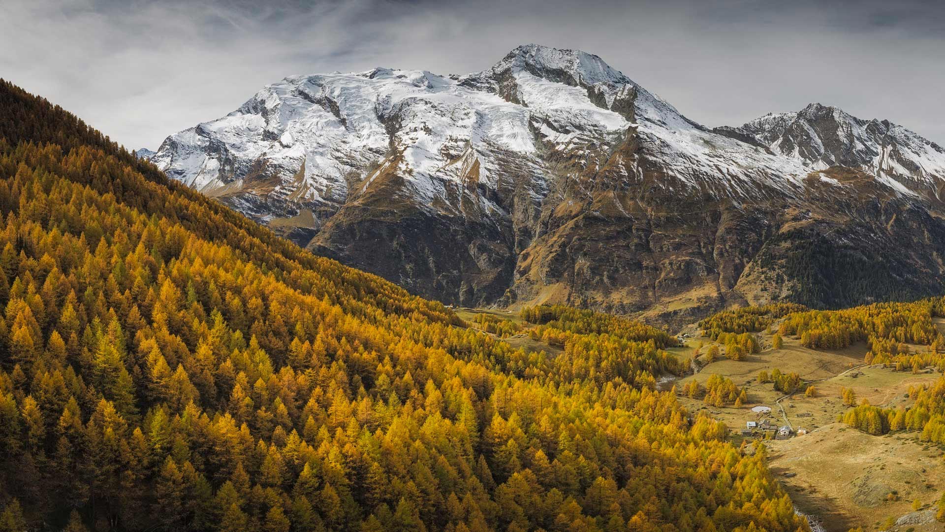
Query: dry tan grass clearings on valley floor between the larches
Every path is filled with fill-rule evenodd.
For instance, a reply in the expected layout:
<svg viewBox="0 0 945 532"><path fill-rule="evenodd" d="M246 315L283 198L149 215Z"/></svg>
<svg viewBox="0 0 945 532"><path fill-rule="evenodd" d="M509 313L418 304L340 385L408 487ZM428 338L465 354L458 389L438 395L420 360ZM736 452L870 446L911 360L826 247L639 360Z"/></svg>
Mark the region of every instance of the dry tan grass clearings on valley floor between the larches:
<svg viewBox="0 0 945 532"><path fill-rule="evenodd" d="M456 310L467 321L480 312L526 326L518 312ZM945 329L945 321L939 327ZM691 332L694 328L687 330ZM800 346L796 338L785 338L780 349L772 349L768 333L758 333L757 337L763 346L762 352L737 362L723 354L696 375L664 378L660 388L670 389L675 384L681 389L688 381L705 382L714 373L745 388L748 400L740 408L707 406L701 399L679 395L679 401L690 412L709 412L725 422L736 445L743 440L740 431L748 420L769 418L781 426L786 417L794 429L809 431L789 439L766 440L765 446L775 478L799 510L816 516L826 532L847 532L855 526L862 526L865 531L945 532L943 523L922 523L928 521L932 506L945 490L945 449L920 442L915 433L873 436L836 421L838 415L849 409L840 400L841 388L851 388L857 400L868 399L871 404L908 406L911 402L907 394L909 386L929 384L936 381L939 374L927 371L914 375L881 366L851 370L863 364L867 352L865 343L821 351ZM552 355L560 352L558 347L532 340L524 332L506 341L512 346L544 350ZM710 344L709 338L696 334L695 338L686 340L685 346L667 350L680 358L690 358L697 346L701 345L704 354ZM776 367L783 373L798 373L803 381L814 381L815 397L804 396L805 386L785 397L772 383L758 381L760 371L770 374ZM751 412L751 407L761 404L770 406L771 413ZM912 510L916 500L921 505L919 512ZM909 523L895 524L903 516Z"/></svg>

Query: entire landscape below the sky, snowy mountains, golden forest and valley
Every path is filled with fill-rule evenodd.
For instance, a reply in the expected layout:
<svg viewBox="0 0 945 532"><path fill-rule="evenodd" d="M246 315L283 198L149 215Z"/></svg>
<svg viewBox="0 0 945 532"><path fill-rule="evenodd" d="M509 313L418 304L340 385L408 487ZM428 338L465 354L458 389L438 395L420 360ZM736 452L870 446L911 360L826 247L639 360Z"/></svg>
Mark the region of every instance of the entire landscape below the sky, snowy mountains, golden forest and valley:
<svg viewBox="0 0 945 532"><path fill-rule="evenodd" d="M154 153L0 79L0 532L941 532L945 296L846 306L941 291L943 168L539 46Z"/></svg>

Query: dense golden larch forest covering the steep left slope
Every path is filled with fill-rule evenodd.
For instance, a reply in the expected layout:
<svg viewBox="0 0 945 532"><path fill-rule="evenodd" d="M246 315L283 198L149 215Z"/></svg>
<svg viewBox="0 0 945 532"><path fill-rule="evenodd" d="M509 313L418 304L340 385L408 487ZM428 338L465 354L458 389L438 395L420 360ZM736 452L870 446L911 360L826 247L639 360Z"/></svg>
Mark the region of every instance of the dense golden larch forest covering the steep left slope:
<svg viewBox="0 0 945 532"><path fill-rule="evenodd" d="M514 349L8 82L0 177L0 531L807 529L662 331Z"/></svg>

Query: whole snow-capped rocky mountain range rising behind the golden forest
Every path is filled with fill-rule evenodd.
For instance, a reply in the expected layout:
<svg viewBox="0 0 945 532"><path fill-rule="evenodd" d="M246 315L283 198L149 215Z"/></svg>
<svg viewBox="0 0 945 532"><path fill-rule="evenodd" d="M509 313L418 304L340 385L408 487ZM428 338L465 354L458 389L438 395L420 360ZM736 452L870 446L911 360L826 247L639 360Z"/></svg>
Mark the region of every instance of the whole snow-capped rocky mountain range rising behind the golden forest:
<svg viewBox="0 0 945 532"><path fill-rule="evenodd" d="M812 104L709 130L599 57L286 78L169 136L169 176L461 305L684 323L733 302L940 293L945 151Z"/></svg>

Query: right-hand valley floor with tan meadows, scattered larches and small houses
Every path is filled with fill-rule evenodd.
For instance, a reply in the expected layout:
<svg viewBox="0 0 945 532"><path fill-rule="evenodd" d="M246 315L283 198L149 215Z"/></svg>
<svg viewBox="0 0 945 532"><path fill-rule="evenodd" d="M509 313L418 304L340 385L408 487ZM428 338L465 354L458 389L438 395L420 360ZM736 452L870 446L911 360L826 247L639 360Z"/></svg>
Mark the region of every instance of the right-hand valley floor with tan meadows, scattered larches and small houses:
<svg viewBox="0 0 945 532"><path fill-rule="evenodd" d="M763 438L819 530L945 530L945 298L745 307L698 325L671 349L698 369L675 382L679 401ZM733 356L742 338L758 348Z"/></svg>

